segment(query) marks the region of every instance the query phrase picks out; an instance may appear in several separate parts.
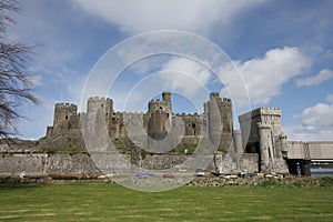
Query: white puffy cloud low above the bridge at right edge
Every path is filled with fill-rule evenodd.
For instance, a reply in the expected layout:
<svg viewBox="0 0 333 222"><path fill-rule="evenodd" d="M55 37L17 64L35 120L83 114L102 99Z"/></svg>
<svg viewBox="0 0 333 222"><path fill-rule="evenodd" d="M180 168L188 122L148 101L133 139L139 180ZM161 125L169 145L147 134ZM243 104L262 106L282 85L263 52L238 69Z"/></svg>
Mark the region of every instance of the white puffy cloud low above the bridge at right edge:
<svg viewBox="0 0 333 222"><path fill-rule="evenodd" d="M333 140L333 95L327 95L329 103L317 103L295 115L301 125L285 125L284 131L289 140L320 141Z"/></svg>

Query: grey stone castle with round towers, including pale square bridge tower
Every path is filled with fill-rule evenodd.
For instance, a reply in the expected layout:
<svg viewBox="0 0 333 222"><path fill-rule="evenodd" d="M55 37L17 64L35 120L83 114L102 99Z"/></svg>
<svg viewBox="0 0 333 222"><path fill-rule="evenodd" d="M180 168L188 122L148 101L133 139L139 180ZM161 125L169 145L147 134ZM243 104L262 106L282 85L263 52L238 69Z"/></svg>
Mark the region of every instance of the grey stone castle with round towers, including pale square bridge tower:
<svg viewBox="0 0 333 222"><path fill-rule="evenodd" d="M40 145L73 149L84 147L82 124L87 121L88 115L102 113L102 122L107 125L111 140L129 140L128 127L142 124L144 131L135 129L135 132L147 134L148 140L143 147L149 149L157 145L154 141L163 140L168 133L176 129L179 124L176 119L180 118L184 132L180 143L170 143L171 153L174 148L195 147L203 138L208 138L209 143L216 147L221 157L224 157L224 162L228 162L226 153L232 153L231 158L239 164L251 160L250 164L256 165L253 171L287 172L285 161L287 144L286 135L281 130L280 109L259 108L242 114L239 117L241 130L233 130L232 101L230 99L222 99L219 93L212 92L203 108L204 112L200 114L174 114L172 113L171 92L163 92L162 100L151 100L145 113L115 112L111 99L97 97L88 100L85 113L78 113L75 104L57 103L53 125L48 127L47 135L40 140ZM135 145L132 144L130 148L132 153L138 154L133 149ZM249 159L249 157L251 158ZM243 164L244 168L246 164Z"/></svg>

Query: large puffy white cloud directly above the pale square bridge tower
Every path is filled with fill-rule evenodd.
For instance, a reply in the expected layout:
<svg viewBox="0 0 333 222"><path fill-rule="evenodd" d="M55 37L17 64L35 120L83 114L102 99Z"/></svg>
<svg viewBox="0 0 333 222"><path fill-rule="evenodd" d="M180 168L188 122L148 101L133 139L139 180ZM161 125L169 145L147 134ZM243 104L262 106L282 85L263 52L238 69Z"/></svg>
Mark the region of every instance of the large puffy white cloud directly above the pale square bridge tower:
<svg viewBox="0 0 333 222"><path fill-rule="evenodd" d="M310 59L296 47L271 49L263 58L233 63L244 78L253 104L268 104L273 97L281 93L285 83L311 67ZM221 72L229 72L230 69L232 65L223 68ZM224 75L228 77L228 74ZM239 84L233 82L228 87L238 88Z"/></svg>

